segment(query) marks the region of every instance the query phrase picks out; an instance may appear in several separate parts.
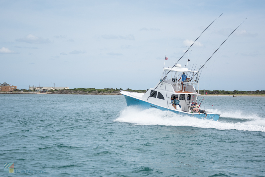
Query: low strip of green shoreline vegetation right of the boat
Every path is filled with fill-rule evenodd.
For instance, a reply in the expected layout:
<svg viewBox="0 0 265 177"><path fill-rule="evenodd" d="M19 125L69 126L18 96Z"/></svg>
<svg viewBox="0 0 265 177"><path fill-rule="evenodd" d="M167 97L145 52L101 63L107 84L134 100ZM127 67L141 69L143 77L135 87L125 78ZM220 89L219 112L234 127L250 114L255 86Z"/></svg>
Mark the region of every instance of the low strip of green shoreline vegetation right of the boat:
<svg viewBox="0 0 265 177"><path fill-rule="evenodd" d="M200 90L200 94L203 95L207 92L207 95L265 95L265 90L256 91L228 91L228 90Z"/></svg>

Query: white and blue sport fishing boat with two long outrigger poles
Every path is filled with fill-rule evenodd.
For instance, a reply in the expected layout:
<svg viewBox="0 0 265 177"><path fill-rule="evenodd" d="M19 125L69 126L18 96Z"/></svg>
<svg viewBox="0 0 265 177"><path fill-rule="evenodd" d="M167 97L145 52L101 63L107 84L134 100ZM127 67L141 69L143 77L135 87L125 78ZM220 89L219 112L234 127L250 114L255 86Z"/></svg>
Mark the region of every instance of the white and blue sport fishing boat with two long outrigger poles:
<svg viewBox="0 0 265 177"><path fill-rule="evenodd" d="M218 16L218 18L220 16ZM216 19L214 21L216 21ZM241 24L244 21L242 21ZM213 24L213 22L211 24ZM238 27L241 24L239 24ZM236 29L238 27L236 27ZM205 30L203 32L205 32ZM201 35L203 34L203 32L201 33ZM231 34L228 37L230 37ZM228 37L226 38L226 40L228 39ZM196 40L193 42L193 44L196 42ZM218 47L218 49L223 45L223 43ZM191 44L191 46L193 44ZM191 48L191 46L188 48L188 50ZM215 54L218 49L216 49L213 54ZM186 52L188 52L188 50ZM186 52L182 55L182 57L186 54ZM211 57L213 56L213 54L211 55ZM180 57L180 59L182 57ZM165 60L166 59L167 57L165 57ZM191 116L191 117L196 117L200 119L211 119L211 120L218 121L220 114L211 113L205 110L203 111L203 114L199 114L199 113L196 113L196 111L192 112L192 109L191 109L192 101L197 102L197 98L200 95L199 94L199 78L200 77L198 77L198 75L200 73L200 70L209 61L209 59L197 71L193 71L192 69L188 70L188 67L187 68L181 67L180 64L177 64L180 61L180 59L175 63L173 67L166 67L166 68L164 67L163 74L161 75L160 81L155 85L155 87L150 88L145 94L121 91L120 93L125 96L127 106L136 105L136 106L140 106L146 109L157 108L160 110L172 111L181 116ZM187 66L188 66L188 62L187 62ZM182 79L180 80L178 78L180 78L182 74L185 74L186 76L188 75L189 78L186 77L186 79L183 80L183 82L181 82ZM183 88L184 90L180 91L180 88L181 89ZM198 89L198 92L197 92L197 89ZM174 104L171 104L171 97L173 97L173 100L176 97L178 97L179 104L175 105L175 107L173 107Z"/></svg>

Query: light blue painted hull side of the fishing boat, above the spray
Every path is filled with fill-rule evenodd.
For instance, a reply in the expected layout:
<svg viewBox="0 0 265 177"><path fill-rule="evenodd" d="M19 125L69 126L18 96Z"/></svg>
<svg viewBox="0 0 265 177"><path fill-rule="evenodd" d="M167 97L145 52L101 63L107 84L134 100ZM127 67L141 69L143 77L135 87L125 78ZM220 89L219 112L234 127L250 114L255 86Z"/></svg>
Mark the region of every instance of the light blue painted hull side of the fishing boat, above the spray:
<svg viewBox="0 0 265 177"><path fill-rule="evenodd" d="M137 98L133 98L133 97L129 97L129 96L126 96L126 95L123 95L125 97L125 100L126 100L126 103L127 103L127 106L140 106L140 107L143 107L145 109L149 109L149 108L157 108L157 109L160 109L162 111L171 111L171 112L174 112L178 115L181 115L181 116L190 116L190 117L196 117L196 118L199 118L199 119L204 119L205 118L205 114L189 114L189 113L185 113L185 112L180 112L180 111L177 111L177 110L171 110L171 109L167 109L165 107L160 107L158 105L154 105L154 104L151 104L149 102L145 102L143 100L138 100ZM211 120L218 120L219 119L219 116L218 114L210 114L208 113L207 114L207 117L206 119L211 119Z"/></svg>

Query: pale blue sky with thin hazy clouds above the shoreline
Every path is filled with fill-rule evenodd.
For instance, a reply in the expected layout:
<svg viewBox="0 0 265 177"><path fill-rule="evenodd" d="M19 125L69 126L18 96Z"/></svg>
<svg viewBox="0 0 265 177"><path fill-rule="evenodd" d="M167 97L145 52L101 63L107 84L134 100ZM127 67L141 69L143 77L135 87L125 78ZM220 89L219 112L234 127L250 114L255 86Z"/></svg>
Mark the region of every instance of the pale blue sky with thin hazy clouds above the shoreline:
<svg viewBox="0 0 265 177"><path fill-rule="evenodd" d="M178 62L200 90L265 90L265 1L0 0L0 83L149 89ZM194 64L194 65L193 65Z"/></svg>

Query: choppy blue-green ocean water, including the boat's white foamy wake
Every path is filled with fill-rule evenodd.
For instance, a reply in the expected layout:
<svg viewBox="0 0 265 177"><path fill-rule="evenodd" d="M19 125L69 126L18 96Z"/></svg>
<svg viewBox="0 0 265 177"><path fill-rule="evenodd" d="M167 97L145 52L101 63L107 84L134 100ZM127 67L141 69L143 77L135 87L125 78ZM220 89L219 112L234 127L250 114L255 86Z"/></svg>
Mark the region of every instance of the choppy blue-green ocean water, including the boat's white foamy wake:
<svg viewBox="0 0 265 177"><path fill-rule="evenodd" d="M27 173L0 176L265 176L264 105L209 96L212 121L122 95L0 94L1 163Z"/></svg>

